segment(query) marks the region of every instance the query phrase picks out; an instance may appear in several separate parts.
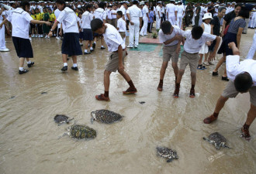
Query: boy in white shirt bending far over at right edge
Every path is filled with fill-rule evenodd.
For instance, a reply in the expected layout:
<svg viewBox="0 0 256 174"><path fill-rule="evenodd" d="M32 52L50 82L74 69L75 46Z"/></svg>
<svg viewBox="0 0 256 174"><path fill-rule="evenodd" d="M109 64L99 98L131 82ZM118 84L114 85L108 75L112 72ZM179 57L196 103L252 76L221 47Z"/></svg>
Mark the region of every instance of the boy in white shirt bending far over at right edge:
<svg viewBox="0 0 256 174"><path fill-rule="evenodd" d="M247 113L247 119L241 128L242 136L246 140L251 139L249 132L250 125L256 117L256 60L246 59L239 62L240 52L237 49L236 43L229 43L228 46L232 50L232 55L227 56L227 75L230 81L227 84L223 94L216 103L215 110L203 122L210 124L219 116L221 109L224 107L227 100L231 97L237 97L237 94L250 93L251 108Z"/></svg>

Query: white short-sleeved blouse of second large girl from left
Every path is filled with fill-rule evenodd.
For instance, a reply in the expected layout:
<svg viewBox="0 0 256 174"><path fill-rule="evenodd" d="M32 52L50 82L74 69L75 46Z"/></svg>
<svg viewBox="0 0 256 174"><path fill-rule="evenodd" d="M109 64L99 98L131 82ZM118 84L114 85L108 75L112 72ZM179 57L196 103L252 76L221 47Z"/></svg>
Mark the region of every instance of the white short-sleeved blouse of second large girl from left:
<svg viewBox="0 0 256 174"><path fill-rule="evenodd" d="M62 23L63 31L65 33L78 32L77 15L72 9L66 7L64 10L62 10L57 18L57 21Z"/></svg>

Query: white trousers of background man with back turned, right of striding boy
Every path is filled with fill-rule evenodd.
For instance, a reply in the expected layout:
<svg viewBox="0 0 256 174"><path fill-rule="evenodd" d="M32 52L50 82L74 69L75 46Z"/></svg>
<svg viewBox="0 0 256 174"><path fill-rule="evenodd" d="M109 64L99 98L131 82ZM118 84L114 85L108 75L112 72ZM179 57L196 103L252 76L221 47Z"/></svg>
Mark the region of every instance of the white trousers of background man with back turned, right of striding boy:
<svg viewBox="0 0 256 174"><path fill-rule="evenodd" d="M140 22L134 22L134 25L129 23L129 46L138 46L139 45L139 36L140 36ZM134 42L135 39L135 42Z"/></svg>

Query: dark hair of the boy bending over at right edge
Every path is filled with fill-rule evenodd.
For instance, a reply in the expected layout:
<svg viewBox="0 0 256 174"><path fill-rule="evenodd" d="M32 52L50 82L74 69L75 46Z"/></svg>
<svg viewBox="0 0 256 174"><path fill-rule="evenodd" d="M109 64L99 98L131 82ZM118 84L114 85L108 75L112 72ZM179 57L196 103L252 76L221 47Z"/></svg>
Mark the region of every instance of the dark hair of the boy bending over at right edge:
<svg viewBox="0 0 256 174"><path fill-rule="evenodd" d="M252 78L249 73L239 73L234 80L234 86L236 87L236 90L240 93L247 92L252 84Z"/></svg>

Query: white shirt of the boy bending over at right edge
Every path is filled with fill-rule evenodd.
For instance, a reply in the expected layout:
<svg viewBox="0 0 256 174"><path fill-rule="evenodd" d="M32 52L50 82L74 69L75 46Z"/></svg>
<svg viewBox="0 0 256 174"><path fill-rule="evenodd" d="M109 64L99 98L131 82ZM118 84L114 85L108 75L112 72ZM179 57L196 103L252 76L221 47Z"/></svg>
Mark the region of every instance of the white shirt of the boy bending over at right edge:
<svg viewBox="0 0 256 174"><path fill-rule="evenodd" d="M230 55L226 58L227 77L234 81L235 77L239 73L250 73L253 86L256 86L256 60L246 59L239 62L240 56Z"/></svg>

